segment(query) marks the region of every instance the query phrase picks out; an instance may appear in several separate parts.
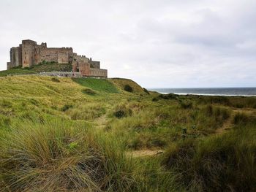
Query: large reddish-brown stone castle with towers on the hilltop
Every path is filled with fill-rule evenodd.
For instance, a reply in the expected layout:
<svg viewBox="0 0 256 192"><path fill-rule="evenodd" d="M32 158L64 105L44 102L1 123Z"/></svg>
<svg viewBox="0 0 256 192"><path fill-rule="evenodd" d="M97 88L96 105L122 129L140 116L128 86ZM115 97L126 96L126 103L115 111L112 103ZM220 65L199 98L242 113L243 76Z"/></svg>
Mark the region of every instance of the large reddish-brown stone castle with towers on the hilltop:
<svg viewBox="0 0 256 192"><path fill-rule="evenodd" d="M37 42L29 39L10 49L7 69L15 66L30 67L43 61L72 64L72 73L79 74L80 77L108 77L108 70L100 69L99 61L74 53L72 47L47 47L46 43L37 45Z"/></svg>

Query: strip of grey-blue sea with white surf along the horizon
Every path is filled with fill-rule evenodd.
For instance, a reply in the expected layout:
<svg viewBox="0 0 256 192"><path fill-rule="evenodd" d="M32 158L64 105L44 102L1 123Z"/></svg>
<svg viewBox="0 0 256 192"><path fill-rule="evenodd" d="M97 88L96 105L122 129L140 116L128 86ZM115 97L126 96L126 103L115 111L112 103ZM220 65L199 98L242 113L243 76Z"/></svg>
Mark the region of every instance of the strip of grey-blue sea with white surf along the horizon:
<svg viewBox="0 0 256 192"><path fill-rule="evenodd" d="M148 88L159 93L205 96L256 96L256 88Z"/></svg>

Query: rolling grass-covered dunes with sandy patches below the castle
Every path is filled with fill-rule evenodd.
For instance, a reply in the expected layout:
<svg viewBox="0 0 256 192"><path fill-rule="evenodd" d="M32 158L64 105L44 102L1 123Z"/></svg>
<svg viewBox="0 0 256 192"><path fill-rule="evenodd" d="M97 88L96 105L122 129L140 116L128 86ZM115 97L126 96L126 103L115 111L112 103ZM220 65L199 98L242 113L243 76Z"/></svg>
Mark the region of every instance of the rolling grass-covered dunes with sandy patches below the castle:
<svg viewBox="0 0 256 192"><path fill-rule="evenodd" d="M0 85L0 191L256 190L255 97L161 95L120 78Z"/></svg>

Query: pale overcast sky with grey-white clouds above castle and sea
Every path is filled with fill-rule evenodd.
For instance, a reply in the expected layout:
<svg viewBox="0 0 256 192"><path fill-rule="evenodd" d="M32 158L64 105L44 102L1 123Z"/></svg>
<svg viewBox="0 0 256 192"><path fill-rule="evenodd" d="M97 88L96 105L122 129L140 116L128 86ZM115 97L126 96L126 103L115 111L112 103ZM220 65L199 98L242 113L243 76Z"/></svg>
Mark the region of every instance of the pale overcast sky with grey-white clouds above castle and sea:
<svg viewBox="0 0 256 192"><path fill-rule="evenodd" d="M32 39L145 88L256 87L255 0L1 0L0 70Z"/></svg>

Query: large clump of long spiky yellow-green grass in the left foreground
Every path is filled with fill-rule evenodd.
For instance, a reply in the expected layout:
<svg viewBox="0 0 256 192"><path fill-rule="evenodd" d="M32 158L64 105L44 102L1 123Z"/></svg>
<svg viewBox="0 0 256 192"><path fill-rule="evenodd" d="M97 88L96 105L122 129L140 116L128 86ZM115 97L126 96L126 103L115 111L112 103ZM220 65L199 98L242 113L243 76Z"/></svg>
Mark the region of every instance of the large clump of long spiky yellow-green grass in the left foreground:
<svg viewBox="0 0 256 192"><path fill-rule="evenodd" d="M1 140L3 191L136 188L132 159L115 139L60 120L20 124Z"/></svg>

